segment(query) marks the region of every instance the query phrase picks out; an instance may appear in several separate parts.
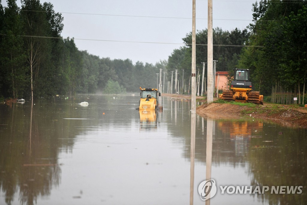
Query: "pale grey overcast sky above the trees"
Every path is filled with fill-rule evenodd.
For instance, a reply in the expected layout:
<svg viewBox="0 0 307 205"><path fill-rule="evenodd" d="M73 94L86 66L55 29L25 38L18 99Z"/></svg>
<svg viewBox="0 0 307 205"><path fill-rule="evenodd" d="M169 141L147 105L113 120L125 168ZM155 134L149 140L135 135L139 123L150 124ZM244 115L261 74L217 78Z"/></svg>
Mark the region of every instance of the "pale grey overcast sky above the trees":
<svg viewBox="0 0 307 205"><path fill-rule="evenodd" d="M63 38L100 58L133 64L167 60L192 31L192 0L41 0L64 17ZM256 0L213 0L213 28L245 29ZM2 0L6 6L6 1ZM17 5L21 6L20 0ZM196 0L196 30L208 27L208 1ZM196 42L197 43L197 42Z"/></svg>

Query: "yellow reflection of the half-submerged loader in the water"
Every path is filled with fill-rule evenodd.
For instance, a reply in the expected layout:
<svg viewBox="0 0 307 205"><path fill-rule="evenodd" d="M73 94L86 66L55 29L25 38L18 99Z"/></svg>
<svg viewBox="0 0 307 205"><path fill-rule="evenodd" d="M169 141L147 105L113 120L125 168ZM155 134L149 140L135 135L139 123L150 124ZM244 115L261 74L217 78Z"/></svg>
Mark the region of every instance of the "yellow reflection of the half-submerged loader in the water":
<svg viewBox="0 0 307 205"><path fill-rule="evenodd" d="M157 129L158 112L154 110L139 110L140 130Z"/></svg>

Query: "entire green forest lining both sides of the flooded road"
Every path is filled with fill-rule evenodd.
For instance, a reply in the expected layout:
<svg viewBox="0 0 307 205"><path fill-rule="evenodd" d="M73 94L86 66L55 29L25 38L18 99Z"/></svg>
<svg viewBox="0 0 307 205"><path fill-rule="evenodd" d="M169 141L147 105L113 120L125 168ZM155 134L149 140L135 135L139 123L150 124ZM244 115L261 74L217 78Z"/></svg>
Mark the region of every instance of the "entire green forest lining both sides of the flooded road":
<svg viewBox="0 0 307 205"><path fill-rule="evenodd" d="M251 69L251 80L261 94L276 101L276 94L291 92L304 103L306 3L261 0L253 4L253 22L246 29L215 28L216 70ZM21 8L15 0L7 0L5 8L0 4L0 97L33 95L35 99L56 94L70 97L77 93L135 92L139 86L156 87L160 69L162 80L165 76L165 92L174 70L178 71L181 92L188 92L191 33L182 38L185 46L173 50L167 60L155 65L133 64L130 59L99 58L78 50L74 38L61 37L62 22L63 17L51 3L22 0ZM202 62L207 62L207 33L206 29L196 33L196 69L200 71Z"/></svg>

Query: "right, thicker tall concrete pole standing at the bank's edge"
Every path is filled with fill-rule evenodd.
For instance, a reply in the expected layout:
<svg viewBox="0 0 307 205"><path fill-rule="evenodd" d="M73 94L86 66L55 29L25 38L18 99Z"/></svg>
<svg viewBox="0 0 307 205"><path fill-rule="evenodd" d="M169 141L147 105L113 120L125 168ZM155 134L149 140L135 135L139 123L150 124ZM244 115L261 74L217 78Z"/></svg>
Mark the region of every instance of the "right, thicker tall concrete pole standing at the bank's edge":
<svg viewBox="0 0 307 205"><path fill-rule="evenodd" d="M212 0L208 0L208 92L207 103L213 102L213 24L212 24Z"/></svg>

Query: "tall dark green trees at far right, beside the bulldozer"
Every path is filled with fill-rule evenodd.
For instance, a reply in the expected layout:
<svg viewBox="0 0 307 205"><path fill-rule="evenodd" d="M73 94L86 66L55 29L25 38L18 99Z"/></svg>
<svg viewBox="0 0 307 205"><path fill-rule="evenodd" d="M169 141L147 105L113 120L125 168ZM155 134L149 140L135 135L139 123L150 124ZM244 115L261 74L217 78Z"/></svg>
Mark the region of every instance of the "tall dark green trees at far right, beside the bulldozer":
<svg viewBox="0 0 307 205"><path fill-rule="evenodd" d="M253 86L264 96L279 85L294 92L307 74L307 12L305 1L265 1L253 4L254 24L249 46L238 68L249 68ZM263 47L258 47L263 46ZM302 91L302 90L300 90Z"/></svg>

